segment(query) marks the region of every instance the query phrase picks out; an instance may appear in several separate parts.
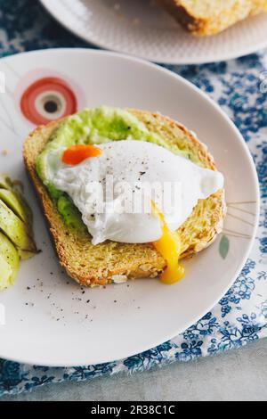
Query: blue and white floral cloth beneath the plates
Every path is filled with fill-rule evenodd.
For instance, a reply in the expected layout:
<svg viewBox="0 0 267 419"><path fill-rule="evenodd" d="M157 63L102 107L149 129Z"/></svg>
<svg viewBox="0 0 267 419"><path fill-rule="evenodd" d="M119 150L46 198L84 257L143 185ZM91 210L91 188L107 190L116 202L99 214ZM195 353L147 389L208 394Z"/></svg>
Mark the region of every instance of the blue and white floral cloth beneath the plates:
<svg viewBox="0 0 267 419"><path fill-rule="evenodd" d="M88 47L53 21L38 2L0 0L0 56L60 46ZM262 207L257 238L246 266L212 312L173 341L98 366L47 368L2 359L0 396L50 382L78 382L101 375L133 373L174 361L190 361L267 336L267 53L230 62L167 67L188 78L223 107L239 127L254 157Z"/></svg>

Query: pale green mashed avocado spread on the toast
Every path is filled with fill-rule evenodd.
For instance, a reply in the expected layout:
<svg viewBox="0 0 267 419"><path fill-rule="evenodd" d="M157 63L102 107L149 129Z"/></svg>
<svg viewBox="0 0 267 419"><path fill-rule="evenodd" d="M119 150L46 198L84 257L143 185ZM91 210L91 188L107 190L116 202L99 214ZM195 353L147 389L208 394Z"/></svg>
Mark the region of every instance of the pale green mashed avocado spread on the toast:
<svg viewBox="0 0 267 419"><path fill-rule="evenodd" d="M51 140L36 160L36 172L47 187L68 226L87 231L79 211L66 193L57 190L49 181L53 166L53 155L58 155L74 144L103 144L125 139L148 141L161 145L174 153L190 159L172 147L161 136L151 132L139 119L128 111L117 108L99 107L85 109L65 119L53 133Z"/></svg>

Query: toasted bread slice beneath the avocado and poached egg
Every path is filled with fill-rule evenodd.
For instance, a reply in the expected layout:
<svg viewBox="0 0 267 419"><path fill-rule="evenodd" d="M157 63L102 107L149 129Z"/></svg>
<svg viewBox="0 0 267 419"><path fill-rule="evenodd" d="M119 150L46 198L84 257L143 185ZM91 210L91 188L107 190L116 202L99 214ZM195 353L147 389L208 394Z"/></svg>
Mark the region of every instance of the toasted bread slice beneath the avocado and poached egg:
<svg viewBox="0 0 267 419"><path fill-rule="evenodd" d="M215 170L214 160L206 152L205 145L188 129L172 119L158 113L128 110L150 131L163 136L165 140L183 152L190 153L191 160L204 168ZM150 243L126 244L104 242L94 246L89 233L77 232L67 226L61 218L46 188L36 174L36 158L44 150L60 122L46 127L37 127L28 136L23 157L28 175L44 209L55 250L69 276L87 286L124 282L129 278L156 277L166 267L166 261ZM182 257L202 251L221 233L225 215L224 191L220 190L198 205L180 227Z"/></svg>

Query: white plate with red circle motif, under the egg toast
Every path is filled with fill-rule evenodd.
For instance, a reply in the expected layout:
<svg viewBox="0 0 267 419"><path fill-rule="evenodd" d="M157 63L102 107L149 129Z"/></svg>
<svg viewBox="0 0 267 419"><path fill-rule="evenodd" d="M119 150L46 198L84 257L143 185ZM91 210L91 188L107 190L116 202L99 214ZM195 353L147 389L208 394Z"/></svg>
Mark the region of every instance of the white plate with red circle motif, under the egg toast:
<svg viewBox="0 0 267 419"><path fill-rule="evenodd" d="M25 53L1 60L0 71L6 78L6 94L0 95L0 168L25 184L35 215L36 242L42 250L21 263L16 285L0 293L6 314L6 324L0 326L0 357L43 366L98 364L150 349L205 315L239 274L258 218L255 167L231 120L183 78L117 53ZM53 87L47 78L54 79ZM44 103L45 92L50 100L65 86L61 96L69 106L73 99L66 92L76 96L80 109L107 104L161 111L197 132L225 175L227 201L238 202L232 204L233 217L225 223L230 241L227 257L220 254L219 237L209 249L184 262L186 277L172 286L144 279L82 290L69 280L55 257L21 159L23 139L34 125L21 114L20 102L21 97L27 100L25 91L36 82ZM44 113L31 111L31 119Z"/></svg>

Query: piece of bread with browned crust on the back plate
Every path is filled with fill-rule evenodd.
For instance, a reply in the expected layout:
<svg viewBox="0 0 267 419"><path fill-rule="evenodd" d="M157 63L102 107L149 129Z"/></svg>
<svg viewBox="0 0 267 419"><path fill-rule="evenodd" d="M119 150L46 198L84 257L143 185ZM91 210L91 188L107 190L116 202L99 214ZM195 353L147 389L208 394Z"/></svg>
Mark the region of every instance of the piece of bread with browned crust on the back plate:
<svg viewBox="0 0 267 419"><path fill-rule="evenodd" d="M158 0L193 35L214 35L238 21L267 12L267 0Z"/></svg>

